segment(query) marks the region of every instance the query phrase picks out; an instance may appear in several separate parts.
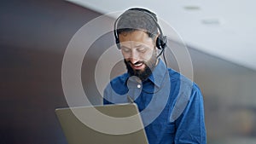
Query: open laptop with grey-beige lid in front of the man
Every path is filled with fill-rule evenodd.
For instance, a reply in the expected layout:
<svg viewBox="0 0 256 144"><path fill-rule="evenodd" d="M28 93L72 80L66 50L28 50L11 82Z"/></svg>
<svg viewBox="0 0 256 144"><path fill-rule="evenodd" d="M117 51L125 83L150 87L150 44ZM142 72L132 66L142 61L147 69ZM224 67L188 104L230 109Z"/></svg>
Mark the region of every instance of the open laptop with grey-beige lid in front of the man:
<svg viewBox="0 0 256 144"><path fill-rule="evenodd" d="M55 110L68 144L148 144L135 103Z"/></svg>

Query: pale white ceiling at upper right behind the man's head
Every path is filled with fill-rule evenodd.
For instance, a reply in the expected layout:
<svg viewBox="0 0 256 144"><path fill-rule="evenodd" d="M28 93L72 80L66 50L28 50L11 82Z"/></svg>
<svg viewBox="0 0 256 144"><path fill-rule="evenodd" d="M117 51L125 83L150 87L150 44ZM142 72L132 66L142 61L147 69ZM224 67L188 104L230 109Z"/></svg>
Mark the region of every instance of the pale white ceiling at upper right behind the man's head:
<svg viewBox="0 0 256 144"><path fill-rule="evenodd" d="M73 0L102 14L141 7L154 11L183 38L207 54L256 70L254 0ZM165 29L163 30L165 33ZM168 36L168 35L167 35ZM254 39L255 38L255 39Z"/></svg>

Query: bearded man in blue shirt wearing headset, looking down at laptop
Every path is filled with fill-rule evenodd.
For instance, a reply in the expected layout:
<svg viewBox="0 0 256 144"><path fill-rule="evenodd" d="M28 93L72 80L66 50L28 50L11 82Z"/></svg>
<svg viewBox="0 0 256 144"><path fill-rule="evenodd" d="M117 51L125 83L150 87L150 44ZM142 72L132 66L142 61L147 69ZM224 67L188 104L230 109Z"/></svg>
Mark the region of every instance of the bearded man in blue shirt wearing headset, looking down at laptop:
<svg viewBox="0 0 256 144"><path fill-rule="evenodd" d="M127 72L104 90L104 104L135 102L148 142L206 143L201 91L160 60L166 47L156 15L128 9L114 24Z"/></svg>

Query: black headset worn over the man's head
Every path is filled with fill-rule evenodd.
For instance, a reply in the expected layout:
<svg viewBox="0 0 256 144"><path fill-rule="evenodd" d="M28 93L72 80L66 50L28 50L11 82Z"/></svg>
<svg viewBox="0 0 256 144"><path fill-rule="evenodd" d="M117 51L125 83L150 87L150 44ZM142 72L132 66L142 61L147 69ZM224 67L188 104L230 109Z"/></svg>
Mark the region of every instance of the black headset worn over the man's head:
<svg viewBox="0 0 256 144"><path fill-rule="evenodd" d="M150 11L147 10L147 9L140 9L140 8L128 9L128 10L126 10L125 12L131 11L131 10L132 10L132 11L143 12L144 14L148 14L148 16L150 16L150 17L154 20L154 23L155 23L155 25L157 26L157 28L158 28L158 30L159 30L159 32L160 32L160 35L156 38L156 43L155 43L155 45L156 45L156 47L157 47L158 49L161 49L161 50L162 50L162 51L161 51L161 53L162 53L162 52L164 51L164 49L166 48L167 38L166 38L166 36L163 35L163 32L162 32L162 30L161 30L161 28L160 28L160 26L159 26L159 24L158 24L158 22L157 22L156 14L150 12ZM125 14L125 13L124 13L124 14ZM122 16L123 16L123 14L121 14L121 15L117 18L117 20L114 21L114 25L113 25L113 34L114 34L115 43L116 43L118 49L121 49L121 48L120 48L120 45L119 45L119 35L118 35L118 32L117 32L117 25L118 25L119 19L120 19ZM160 54L161 54L161 53L160 53Z"/></svg>

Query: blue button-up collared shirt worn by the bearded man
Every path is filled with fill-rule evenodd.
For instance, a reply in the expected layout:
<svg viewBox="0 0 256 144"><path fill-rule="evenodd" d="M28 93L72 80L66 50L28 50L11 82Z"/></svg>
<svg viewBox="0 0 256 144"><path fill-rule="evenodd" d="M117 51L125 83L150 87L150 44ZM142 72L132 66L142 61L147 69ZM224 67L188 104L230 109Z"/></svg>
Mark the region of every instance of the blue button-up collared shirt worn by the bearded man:
<svg viewBox="0 0 256 144"><path fill-rule="evenodd" d="M162 60L143 82L125 73L104 90L104 104L137 103L150 144L207 143L201 90Z"/></svg>

